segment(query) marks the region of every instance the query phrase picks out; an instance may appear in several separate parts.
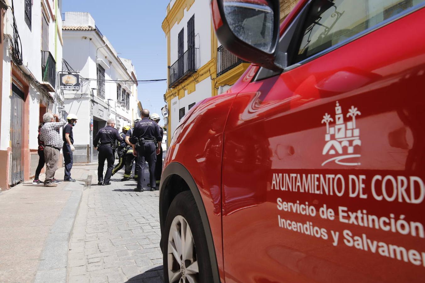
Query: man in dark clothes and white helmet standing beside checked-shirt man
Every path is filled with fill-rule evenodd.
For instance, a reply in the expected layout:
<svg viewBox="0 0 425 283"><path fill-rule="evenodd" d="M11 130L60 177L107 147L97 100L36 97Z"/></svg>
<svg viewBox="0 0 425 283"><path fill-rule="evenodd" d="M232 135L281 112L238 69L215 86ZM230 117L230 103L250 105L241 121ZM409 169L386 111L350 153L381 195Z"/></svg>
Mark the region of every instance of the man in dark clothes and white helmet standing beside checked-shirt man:
<svg viewBox="0 0 425 283"><path fill-rule="evenodd" d="M66 120L68 124L65 125L62 132L63 137L63 159L65 160L65 174L63 180L66 182L75 182L75 179L71 178L71 169L72 169L72 152L74 152L74 134L72 134L72 127L77 124L77 115L68 114Z"/></svg>

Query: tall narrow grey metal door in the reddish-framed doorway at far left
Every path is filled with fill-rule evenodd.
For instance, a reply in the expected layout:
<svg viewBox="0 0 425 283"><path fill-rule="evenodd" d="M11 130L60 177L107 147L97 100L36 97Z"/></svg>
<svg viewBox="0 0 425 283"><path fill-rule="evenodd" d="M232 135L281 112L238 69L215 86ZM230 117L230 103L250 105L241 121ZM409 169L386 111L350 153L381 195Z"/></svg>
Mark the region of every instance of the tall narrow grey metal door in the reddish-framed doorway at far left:
<svg viewBox="0 0 425 283"><path fill-rule="evenodd" d="M23 181L22 168L22 117L24 108L24 93L12 83L11 119L10 119L10 139L12 144L11 159L11 180L10 185L14 186Z"/></svg>

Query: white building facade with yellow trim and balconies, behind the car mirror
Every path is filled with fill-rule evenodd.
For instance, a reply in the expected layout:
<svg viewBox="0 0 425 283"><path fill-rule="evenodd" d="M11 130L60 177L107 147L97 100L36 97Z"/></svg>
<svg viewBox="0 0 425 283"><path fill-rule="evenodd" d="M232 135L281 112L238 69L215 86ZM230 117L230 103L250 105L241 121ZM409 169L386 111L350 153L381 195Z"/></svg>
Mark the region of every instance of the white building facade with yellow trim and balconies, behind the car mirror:
<svg viewBox="0 0 425 283"><path fill-rule="evenodd" d="M283 20L298 0L280 0ZM221 46L211 21L210 1L171 0L162 22L167 40L167 140L197 102L227 91L248 68Z"/></svg>

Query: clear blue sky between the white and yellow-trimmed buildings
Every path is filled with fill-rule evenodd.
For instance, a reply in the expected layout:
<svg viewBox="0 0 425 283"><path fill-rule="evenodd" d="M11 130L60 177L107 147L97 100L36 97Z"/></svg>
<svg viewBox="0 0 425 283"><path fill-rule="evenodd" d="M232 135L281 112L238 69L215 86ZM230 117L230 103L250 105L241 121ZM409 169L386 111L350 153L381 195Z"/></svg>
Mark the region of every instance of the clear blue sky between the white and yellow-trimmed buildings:
<svg viewBox="0 0 425 283"><path fill-rule="evenodd" d="M138 80L156 80L167 78L167 42L161 24L168 3L170 0L63 0L62 13L90 13L102 34L121 53L118 56L133 61ZM139 84L138 99L143 108L162 117L166 90L166 81Z"/></svg>

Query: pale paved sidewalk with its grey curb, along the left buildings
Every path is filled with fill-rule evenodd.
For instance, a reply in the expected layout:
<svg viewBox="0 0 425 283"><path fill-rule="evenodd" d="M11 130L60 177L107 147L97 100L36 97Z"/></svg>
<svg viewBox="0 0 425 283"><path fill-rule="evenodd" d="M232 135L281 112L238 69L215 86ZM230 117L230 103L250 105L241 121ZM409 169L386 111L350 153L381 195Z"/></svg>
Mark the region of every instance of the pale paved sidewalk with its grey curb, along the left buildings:
<svg viewBox="0 0 425 283"><path fill-rule="evenodd" d="M87 169L74 165L75 183L47 188L31 180L0 194L0 282L65 281L69 234ZM63 173L60 168L55 175L62 180Z"/></svg>

